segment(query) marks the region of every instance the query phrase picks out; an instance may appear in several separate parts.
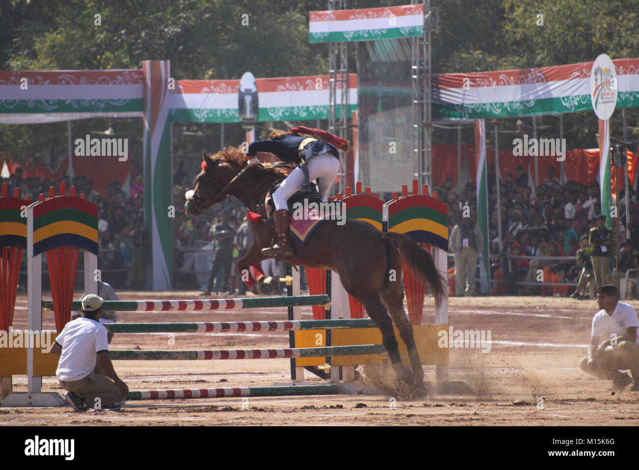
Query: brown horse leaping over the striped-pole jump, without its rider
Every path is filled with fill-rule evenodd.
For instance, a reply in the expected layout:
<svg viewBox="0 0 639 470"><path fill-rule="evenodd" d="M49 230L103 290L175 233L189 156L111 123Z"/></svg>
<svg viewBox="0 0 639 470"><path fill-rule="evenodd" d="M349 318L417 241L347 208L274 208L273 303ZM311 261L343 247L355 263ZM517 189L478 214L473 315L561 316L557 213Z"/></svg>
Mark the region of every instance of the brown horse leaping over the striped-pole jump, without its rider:
<svg viewBox="0 0 639 470"><path fill-rule="evenodd" d="M240 148L227 147L213 157L202 152L202 156L203 170L197 175L194 193L185 204L187 215L196 217L205 208L233 195L249 210L261 214L263 221L268 218L266 193L286 177L284 169L268 165L250 166L233 180L247 166L247 157ZM238 261L240 273L265 259L260 251L271 246L275 237L272 224L251 222L250 226L255 243ZM339 274L346 292L364 304L369 317L380 327L383 345L389 352L394 370L401 379L414 386L413 396L425 396L424 371L415 347L412 325L404 313L401 263L406 263L420 282L431 285L439 302L447 295L447 283L428 251L406 235L383 233L371 224L355 219L346 219L342 225L336 221L325 221L305 246L298 244L294 237L291 237L291 243L295 255L287 262L330 269ZM402 366L393 322L408 349L412 373Z"/></svg>

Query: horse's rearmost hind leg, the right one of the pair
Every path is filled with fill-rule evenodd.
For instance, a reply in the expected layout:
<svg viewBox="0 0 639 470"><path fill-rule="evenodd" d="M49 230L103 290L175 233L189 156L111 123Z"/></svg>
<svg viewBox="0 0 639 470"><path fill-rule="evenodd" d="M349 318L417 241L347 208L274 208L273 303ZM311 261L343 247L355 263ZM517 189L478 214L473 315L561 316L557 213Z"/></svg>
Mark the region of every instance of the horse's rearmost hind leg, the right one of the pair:
<svg viewBox="0 0 639 470"><path fill-rule="evenodd" d="M404 341L406 349L408 349L408 359L413 370L413 377L415 377L415 398L426 396L424 370L422 369L422 361L419 358L419 351L413 336L413 325L410 324L404 312L404 295L401 282L387 281L380 292L380 296L381 301L387 307L393 322L399 330L399 336Z"/></svg>

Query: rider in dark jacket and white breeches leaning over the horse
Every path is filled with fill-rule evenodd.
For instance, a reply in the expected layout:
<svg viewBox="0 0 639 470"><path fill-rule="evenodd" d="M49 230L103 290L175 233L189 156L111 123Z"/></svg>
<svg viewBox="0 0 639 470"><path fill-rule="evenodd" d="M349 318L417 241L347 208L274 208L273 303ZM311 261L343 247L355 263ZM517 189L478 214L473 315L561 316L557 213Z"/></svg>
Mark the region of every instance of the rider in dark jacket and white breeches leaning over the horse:
<svg viewBox="0 0 639 470"><path fill-rule="evenodd" d="M319 194L327 201L330 187L339 172L337 148L348 152L350 142L325 130L303 126L295 127L288 132L272 132L267 140L255 141L249 145L249 157L254 157L258 152L270 152L283 162L298 164L273 192L273 223L277 231L277 243L272 248L263 249L263 255L293 255L288 239L288 199L307 182L319 178Z"/></svg>

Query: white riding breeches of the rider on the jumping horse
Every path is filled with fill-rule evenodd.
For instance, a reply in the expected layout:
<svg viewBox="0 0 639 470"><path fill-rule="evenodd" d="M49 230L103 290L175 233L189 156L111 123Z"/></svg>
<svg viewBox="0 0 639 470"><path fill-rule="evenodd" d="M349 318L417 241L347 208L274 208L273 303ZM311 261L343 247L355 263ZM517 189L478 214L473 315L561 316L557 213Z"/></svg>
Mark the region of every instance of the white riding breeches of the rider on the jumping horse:
<svg viewBox="0 0 639 470"><path fill-rule="evenodd" d="M309 169L310 181L319 178L319 195L327 201L328 191L339 173L339 160L330 153L320 153L308 159L306 166ZM275 210L288 209L288 199L305 184L306 179L302 169L298 167L291 171L286 180L282 181L279 188L273 192Z"/></svg>

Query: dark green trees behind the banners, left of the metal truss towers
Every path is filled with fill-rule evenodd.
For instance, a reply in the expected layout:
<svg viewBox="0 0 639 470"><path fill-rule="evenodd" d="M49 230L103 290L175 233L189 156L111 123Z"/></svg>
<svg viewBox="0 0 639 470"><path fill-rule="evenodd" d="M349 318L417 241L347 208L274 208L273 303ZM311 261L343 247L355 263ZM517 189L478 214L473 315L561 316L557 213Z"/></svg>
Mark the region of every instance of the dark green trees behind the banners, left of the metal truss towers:
<svg viewBox="0 0 639 470"><path fill-rule="evenodd" d="M8 26L0 33L0 51L8 51L0 67L139 68L147 59L169 59L175 79L238 79L247 70L257 77L325 74L326 46L308 40L314 7L284 0L0 0L0 26ZM75 121L73 134L110 126L117 134L130 123ZM239 126L227 132L243 136ZM55 164L66 157L66 124L0 125L0 142L18 161L37 155Z"/></svg>

